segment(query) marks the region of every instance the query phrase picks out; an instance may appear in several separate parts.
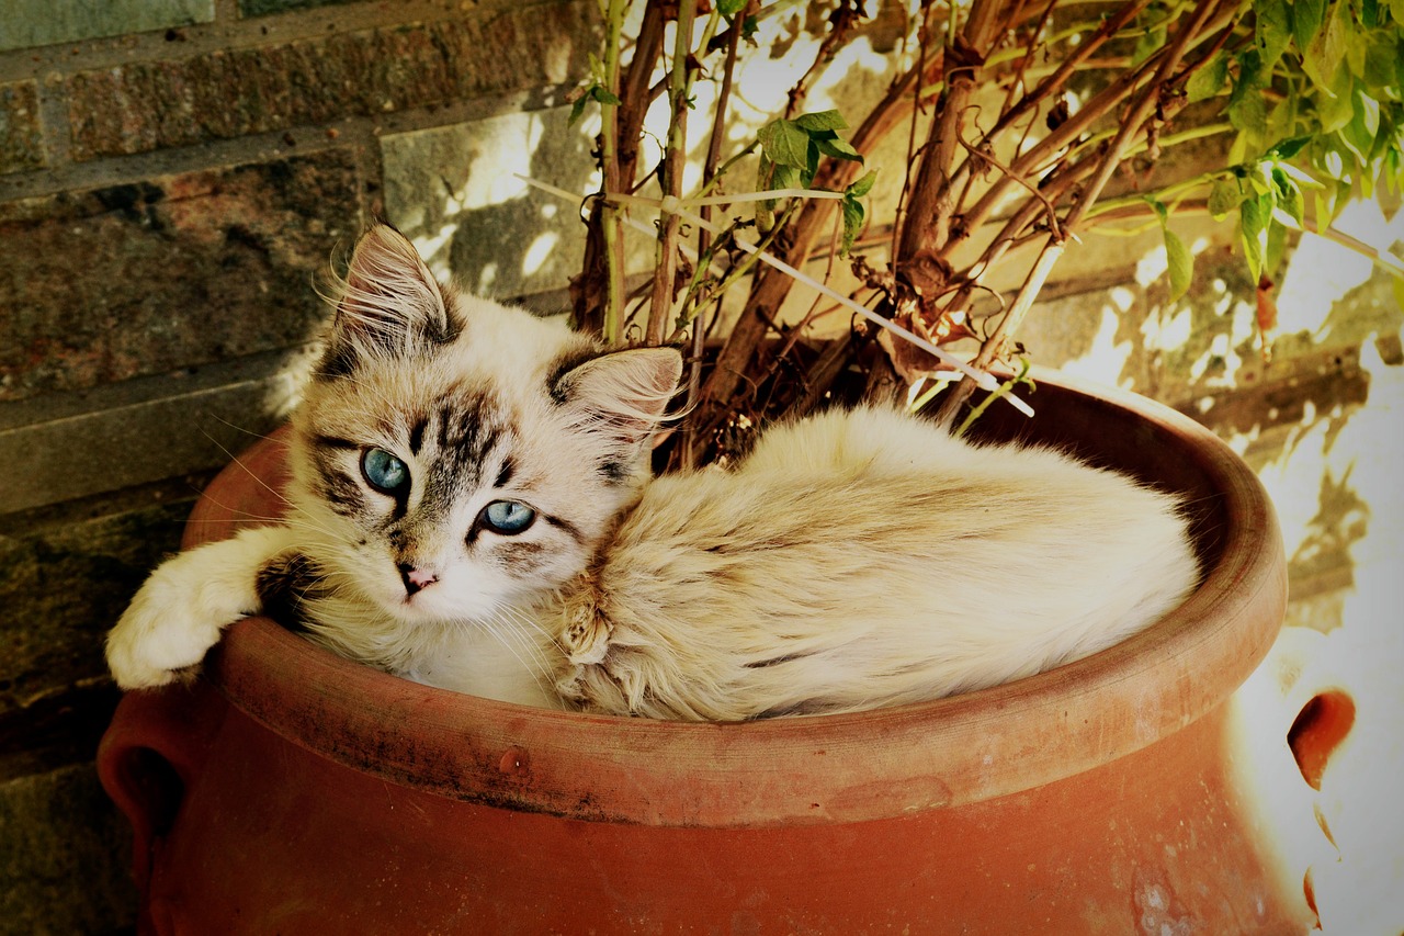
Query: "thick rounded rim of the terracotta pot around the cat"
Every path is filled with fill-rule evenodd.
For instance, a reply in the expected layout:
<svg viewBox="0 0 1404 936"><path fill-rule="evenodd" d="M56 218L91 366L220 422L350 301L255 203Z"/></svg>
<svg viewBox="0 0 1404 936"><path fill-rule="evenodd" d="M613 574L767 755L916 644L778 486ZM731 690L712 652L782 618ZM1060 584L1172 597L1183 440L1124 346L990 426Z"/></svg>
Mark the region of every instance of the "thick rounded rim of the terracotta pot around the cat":
<svg viewBox="0 0 1404 936"><path fill-rule="evenodd" d="M250 618L230 628L206 677L264 727L336 762L449 798L577 819L855 822L1061 781L1184 728L1237 689L1280 625L1286 573L1266 493L1216 436L1132 394L1067 375L1039 382L1153 422L1238 520L1185 604L1082 661L870 713L684 724L437 690Z"/></svg>

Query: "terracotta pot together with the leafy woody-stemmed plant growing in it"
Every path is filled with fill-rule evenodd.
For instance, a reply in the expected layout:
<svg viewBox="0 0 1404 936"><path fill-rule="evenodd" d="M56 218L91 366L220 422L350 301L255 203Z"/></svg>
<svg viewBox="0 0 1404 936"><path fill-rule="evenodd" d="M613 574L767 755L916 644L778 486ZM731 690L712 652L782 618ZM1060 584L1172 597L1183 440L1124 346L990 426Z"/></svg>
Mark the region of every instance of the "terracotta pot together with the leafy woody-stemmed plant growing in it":
<svg viewBox="0 0 1404 936"><path fill-rule="evenodd" d="M1182 292L1193 261L1171 219L1231 218L1269 330L1292 228L1327 230L1352 183L1400 180L1396 10L900 10L910 37L896 77L852 131L833 111L803 112L862 31L862 7L841 1L786 111L727 152L744 45L802 11L682 0L630 20L609 3L578 98L602 118L602 190L588 202L577 326L691 349L688 415L657 453L661 469L733 458L757 426L826 399L906 389L953 431L1063 446L1188 495L1199 590L1125 644L1015 683L744 724L456 696L243 621L194 687L128 696L104 741L104 783L138 831L150 929L1311 923L1300 870L1265 847L1231 770L1228 700L1285 603L1261 488L1210 433L1147 401L1056 377L1039 377L1033 419L1001 399L1028 378L1021 320L1094 225L1160 228ZM688 191L703 73L716 104ZM639 145L654 94L668 117L656 164ZM1221 164L1151 173L1210 134L1233 139ZM906 141L906 157L875 177L862 155L885 138ZM1141 190L1106 195L1147 173ZM635 298L625 238L640 219L657 249ZM820 284L823 299L786 319L816 257L830 271L844 263L852 285ZM729 306L733 285L746 295ZM830 305L854 326L821 330ZM960 381L927 401L952 367ZM267 516L282 472L277 443L256 448L213 485L188 541Z"/></svg>

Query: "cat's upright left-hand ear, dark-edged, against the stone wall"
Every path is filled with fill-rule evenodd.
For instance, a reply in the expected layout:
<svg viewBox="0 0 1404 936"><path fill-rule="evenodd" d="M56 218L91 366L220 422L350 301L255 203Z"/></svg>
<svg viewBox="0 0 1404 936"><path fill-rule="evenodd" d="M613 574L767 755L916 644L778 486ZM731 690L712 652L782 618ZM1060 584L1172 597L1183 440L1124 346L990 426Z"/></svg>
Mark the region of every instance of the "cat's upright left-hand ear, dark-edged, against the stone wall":
<svg viewBox="0 0 1404 936"><path fill-rule="evenodd" d="M459 325L451 298L414 245L389 225L357 242L336 298L322 371L350 372L364 358L402 358L452 342Z"/></svg>

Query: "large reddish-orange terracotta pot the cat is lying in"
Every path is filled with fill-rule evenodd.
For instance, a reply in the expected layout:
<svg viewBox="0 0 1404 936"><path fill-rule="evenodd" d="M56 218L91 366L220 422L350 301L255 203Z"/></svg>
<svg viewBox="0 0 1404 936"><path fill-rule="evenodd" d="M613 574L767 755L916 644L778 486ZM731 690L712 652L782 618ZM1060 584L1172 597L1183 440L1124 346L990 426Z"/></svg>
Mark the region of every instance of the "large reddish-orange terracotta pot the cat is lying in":
<svg viewBox="0 0 1404 936"><path fill-rule="evenodd" d="M1259 842L1227 734L1286 600L1262 488L1148 401L1045 378L1033 402L1035 420L991 412L984 431L1191 493L1207 578L1148 631L955 698L710 725L427 689L247 620L192 687L128 694L102 741L143 926L1306 929L1300 877ZM220 475L187 544L270 516L281 457L275 437Z"/></svg>

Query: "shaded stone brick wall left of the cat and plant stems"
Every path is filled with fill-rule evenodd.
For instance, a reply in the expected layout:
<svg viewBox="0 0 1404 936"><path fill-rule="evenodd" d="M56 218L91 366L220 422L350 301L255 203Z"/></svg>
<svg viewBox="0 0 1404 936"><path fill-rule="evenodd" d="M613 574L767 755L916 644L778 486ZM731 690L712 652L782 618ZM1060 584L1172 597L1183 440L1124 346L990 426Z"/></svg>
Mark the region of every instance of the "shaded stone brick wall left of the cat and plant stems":
<svg viewBox="0 0 1404 936"><path fill-rule="evenodd" d="M588 171L588 141L546 129L594 10L4 4L0 933L133 919L125 822L91 766L117 701L102 635L202 483L284 415L336 250L372 215L423 233L472 207L439 267L472 256L498 295L564 285L569 250L514 266L501 226L546 208L504 207L526 197L487 170L534 136L538 160Z"/></svg>

